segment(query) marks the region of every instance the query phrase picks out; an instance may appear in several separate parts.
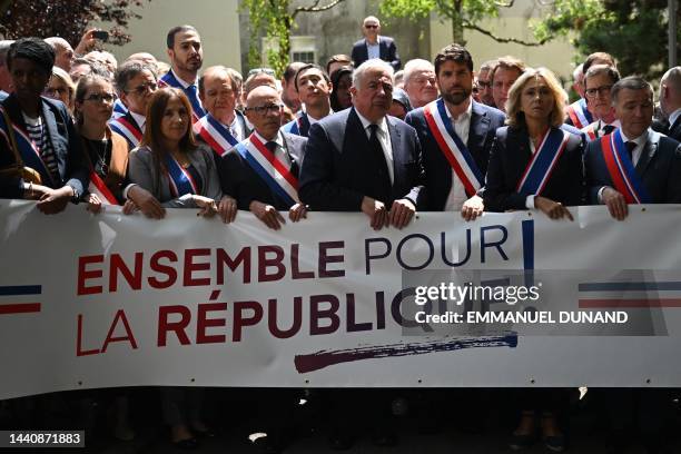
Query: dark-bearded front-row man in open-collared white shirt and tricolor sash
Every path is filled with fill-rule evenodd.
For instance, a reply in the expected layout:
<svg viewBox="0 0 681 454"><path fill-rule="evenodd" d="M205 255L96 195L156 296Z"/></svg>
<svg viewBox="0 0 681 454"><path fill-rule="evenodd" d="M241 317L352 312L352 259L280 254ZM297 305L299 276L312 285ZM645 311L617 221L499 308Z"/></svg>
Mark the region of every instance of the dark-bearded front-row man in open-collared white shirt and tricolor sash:
<svg viewBox="0 0 681 454"><path fill-rule="evenodd" d="M483 211L477 190L487 171L494 132L504 126L505 116L501 110L472 99L473 58L465 48L450 45L442 49L435 57L435 76L441 99L411 111L405 119L416 129L423 149L428 193L426 209L461 211L466 220L475 219ZM456 144L463 145L463 149L451 148ZM472 161L456 159L466 152ZM470 166L480 180L464 182L458 176L462 165ZM463 178L471 176L466 174Z"/></svg>

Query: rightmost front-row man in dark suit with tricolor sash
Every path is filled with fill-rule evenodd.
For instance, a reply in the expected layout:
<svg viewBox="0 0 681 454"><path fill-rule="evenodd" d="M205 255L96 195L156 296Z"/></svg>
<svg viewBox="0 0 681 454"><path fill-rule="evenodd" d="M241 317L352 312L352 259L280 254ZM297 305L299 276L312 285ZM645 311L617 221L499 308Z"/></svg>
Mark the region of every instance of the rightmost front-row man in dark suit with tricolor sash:
<svg viewBox="0 0 681 454"><path fill-rule="evenodd" d="M612 87L610 96L615 117L622 125L611 136L614 136L614 142L621 137L623 152L620 156L624 165L633 165L635 171L628 175L628 179L635 194L624 190L624 186L616 182L620 178L616 175L613 178L608 170L608 152L603 152L603 145L611 136L605 136L586 148L586 184L591 201L606 205L612 217L619 220L626 217L630 203L681 203L681 147L677 140L650 128L652 87L639 77L626 77Z"/></svg>

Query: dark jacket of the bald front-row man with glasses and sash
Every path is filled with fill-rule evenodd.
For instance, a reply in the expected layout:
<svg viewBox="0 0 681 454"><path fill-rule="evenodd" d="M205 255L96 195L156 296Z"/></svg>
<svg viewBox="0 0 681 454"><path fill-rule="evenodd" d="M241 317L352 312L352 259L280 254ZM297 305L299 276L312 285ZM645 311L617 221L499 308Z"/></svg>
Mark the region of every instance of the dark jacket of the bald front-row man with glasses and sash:
<svg viewBox="0 0 681 454"><path fill-rule="evenodd" d="M294 176L299 175L300 164L305 156L305 144L307 138L288 132L282 132L286 151L292 161L290 170ZM239 209L247 210L253 200L272 205L279 211L286 211L287 206L275 191L260 178L250 165L231 148L223 158L218 158L218 175L223 186L223 193L237 200Z"/></svg>

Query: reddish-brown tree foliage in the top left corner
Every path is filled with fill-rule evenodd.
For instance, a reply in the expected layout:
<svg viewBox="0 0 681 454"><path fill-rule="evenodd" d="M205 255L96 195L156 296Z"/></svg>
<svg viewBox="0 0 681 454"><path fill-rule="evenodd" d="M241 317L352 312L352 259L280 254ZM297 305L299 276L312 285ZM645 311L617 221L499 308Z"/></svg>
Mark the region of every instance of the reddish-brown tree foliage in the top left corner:
<svg viewBox="0 0 681 454"><path fill-rule="evenodd" d="M3 0L0 33L6 39L61 37L76 46L90 22L112 22L108 42L122 46L130 41L126 33L130 19L141 18L132 8L142 3L144 0Z"/></svg>

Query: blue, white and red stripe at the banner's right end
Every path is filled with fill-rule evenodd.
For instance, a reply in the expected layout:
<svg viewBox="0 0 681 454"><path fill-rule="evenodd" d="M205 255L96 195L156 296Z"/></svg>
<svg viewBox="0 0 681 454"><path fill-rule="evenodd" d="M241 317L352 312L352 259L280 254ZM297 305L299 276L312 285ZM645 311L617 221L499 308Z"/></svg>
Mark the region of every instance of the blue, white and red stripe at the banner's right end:
<svg viewBox="0 0 681 454"><path fill-rule="evenodd" d="M675 280L582 283L579 290L581 309L681 307L681 282Z"/></svg>

